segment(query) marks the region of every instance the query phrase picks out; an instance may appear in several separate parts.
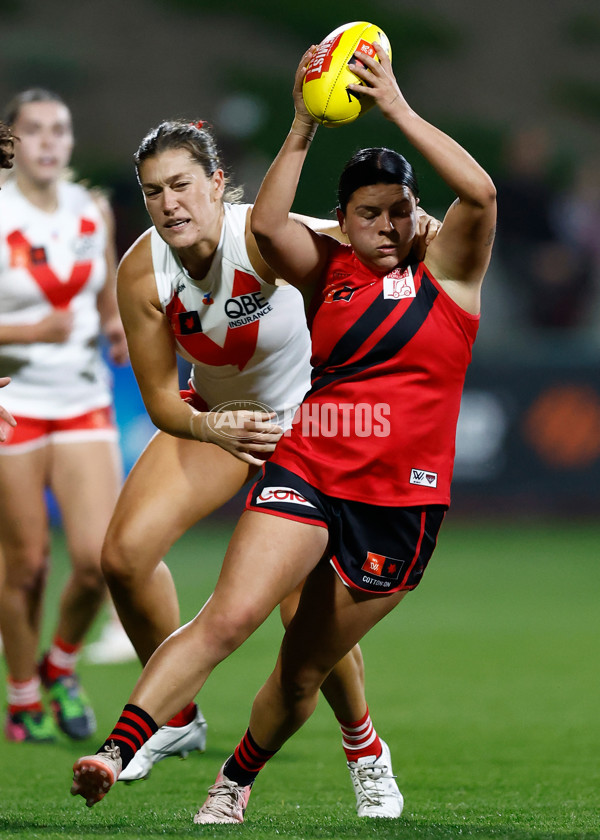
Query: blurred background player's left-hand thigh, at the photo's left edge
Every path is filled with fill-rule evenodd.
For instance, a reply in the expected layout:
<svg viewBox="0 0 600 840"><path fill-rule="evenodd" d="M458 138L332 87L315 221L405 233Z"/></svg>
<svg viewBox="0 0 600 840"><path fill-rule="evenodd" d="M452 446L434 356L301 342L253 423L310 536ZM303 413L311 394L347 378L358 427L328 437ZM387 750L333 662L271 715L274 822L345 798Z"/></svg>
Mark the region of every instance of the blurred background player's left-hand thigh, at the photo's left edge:
<svg viewBox="0 0 600 840"><path fill-rule="evenodd" d="M47 450L0 455L0 545L6 564L43 558L48 541L44 495Z"/></svg>

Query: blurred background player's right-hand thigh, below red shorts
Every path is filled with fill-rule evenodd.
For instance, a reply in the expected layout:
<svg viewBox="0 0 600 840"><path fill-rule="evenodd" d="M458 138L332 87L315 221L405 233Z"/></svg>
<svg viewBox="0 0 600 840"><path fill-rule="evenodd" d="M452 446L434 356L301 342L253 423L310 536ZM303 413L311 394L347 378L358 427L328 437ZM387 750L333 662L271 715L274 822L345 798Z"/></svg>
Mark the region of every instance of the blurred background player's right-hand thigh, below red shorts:
<svg viewBox="0 0 600 840"><path fill-rule="evenodd" d="M116 440L52 444L50 486L73 560L100 563L100 550L122 482Z"/></svg>

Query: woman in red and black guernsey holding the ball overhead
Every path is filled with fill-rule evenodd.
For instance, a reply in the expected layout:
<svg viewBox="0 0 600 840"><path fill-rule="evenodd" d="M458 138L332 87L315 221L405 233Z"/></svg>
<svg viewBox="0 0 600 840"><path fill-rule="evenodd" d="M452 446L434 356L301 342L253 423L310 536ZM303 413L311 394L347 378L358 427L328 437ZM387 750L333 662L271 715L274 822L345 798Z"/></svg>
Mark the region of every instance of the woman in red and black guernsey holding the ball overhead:
<svg viewBox="0 0 600 840"><path fill-rule="evenodd" d="M306 577L275 670L196 823L243 822L252 784L312 714L335 663L421 580L450 503L454 440L496 219L487 173L407 104L389 59L361 55L349 90L371 97L456 195L425 259L413 261L417 185L389 149L342 172L338 219L350 245L290 221L317 125L296 73L295 118L257 197L252 230L278 276L312 297L312 387L252 489L211 600L148 662L95 756L76 762L88 805L121 764L204 684L214 666ZM128 743L128 740L130 743ZM385 767L385 750L378 756ZM390 781L365 762L365 795Z"/></svg>

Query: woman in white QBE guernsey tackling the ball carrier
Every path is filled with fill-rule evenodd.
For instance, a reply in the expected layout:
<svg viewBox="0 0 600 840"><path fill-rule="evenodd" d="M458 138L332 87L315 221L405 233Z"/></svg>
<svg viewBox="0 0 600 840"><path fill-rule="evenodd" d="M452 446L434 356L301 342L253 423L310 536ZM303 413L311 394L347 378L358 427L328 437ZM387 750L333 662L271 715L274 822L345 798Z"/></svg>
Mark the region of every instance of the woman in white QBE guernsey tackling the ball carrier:
<svg viewBox="0 0 600 840"><path fill-rule="evenodd" d="M133 369L160 431L124 485L102 566L145 664L180 625L162 558L274 450L309 387L310 342L302 297L276 282L260 257L250 231L252 207L235 203L239 191L228 186L210 131L202 123L161 123L142 141L135 163L153 227L121 262L118 299ZM308 221L339 234L333 222ZM179 390L176 353L192 363L188 392ZM284 623L295 607L295 597L282 605ZM334 669L324 694L342 725L352 774L377 738L358 647ZM204 749L205 738L206 723L191 704L120 779L144 778L167 755ZM392 792L362 815L397 810L393 799Z"/></svg>

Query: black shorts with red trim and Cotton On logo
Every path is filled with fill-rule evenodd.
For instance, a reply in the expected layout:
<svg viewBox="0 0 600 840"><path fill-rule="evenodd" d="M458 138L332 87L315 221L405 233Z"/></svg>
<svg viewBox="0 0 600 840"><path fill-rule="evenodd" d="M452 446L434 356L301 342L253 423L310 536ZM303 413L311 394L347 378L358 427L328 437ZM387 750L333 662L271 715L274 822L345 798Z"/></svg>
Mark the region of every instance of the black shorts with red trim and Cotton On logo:
<svg viewBox="0 0 600 840"><path fill-rule="evenodd" d="M383 507L327 496L269 461L246 509L327 528L330 563L342 581L377 593L421 582L446 513L445 505Z"/></svg>

